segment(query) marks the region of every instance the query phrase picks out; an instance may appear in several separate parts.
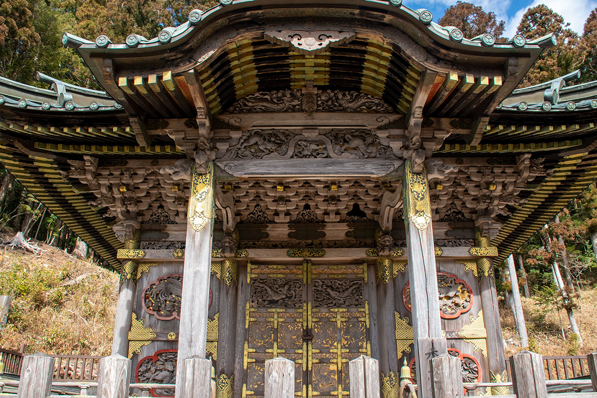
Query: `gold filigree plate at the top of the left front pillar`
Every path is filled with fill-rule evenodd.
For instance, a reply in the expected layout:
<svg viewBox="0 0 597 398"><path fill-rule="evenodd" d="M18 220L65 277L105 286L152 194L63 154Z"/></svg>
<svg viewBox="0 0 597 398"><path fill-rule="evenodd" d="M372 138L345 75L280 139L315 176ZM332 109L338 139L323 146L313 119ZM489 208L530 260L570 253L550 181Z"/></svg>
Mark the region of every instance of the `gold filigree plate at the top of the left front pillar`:
<svg viewBox="0 0 597 398"><path fill-rule="evenodd" d="M196 232L201 231L213 217L213 177L214 165L211 162L207 163L207 173L205 174L197 174L193 168L187 217Z"/></svg>

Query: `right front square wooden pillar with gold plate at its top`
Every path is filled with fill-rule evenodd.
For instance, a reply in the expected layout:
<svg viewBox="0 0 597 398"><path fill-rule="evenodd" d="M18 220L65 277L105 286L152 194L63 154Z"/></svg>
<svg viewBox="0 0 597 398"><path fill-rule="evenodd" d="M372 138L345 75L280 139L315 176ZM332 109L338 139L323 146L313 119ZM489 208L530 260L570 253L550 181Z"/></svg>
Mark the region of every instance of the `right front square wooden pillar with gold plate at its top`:
<svg viewBox="0 0 597 398"><path fill-rule="evenodd" d="M417 364L417 396L430 397L432 379L429 360L448 353L442 337L438 304L438 276L429 203L427 173L414 172L411 161L404 163L404 223L407 237L408 280L414 350Z"/></svg>

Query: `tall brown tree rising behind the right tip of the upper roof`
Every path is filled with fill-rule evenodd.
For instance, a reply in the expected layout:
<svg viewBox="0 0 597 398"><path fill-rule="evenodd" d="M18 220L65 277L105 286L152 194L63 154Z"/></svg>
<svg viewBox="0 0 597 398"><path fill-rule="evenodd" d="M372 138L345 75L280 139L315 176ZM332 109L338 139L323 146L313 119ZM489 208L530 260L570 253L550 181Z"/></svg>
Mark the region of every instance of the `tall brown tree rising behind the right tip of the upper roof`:
<svg viewBox="0 0 597 398"><path fill-rule="evenodd" d="M549 81L577 69L582 61L578 35L564 23L564 18L544 4L529 8L518 25L518 33L527 40L555 33L558 44L543 50L537 62L529 70L521 87Z"/></svg>

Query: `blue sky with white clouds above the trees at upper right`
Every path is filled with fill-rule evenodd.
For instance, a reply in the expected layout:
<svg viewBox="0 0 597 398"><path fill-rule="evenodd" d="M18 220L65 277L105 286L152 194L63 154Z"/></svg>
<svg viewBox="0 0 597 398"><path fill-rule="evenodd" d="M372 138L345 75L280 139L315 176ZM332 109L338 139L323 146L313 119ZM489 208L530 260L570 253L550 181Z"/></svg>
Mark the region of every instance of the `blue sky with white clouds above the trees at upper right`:
<svg viewBox="0 0 597 398"><path fill-rule="evenodd" d="M570 27L579 34L583 33L583 25L590 12L597 8L597 0L465 0L481 5L485 11L493 11L497 17L506 22L504 36L512 37L523 14L529 7L545 4L570 22ZM405 6L417 10L427 8L433 13L433 21L444 15L446 8L456 4L456 0L404 0Z"/></svg>

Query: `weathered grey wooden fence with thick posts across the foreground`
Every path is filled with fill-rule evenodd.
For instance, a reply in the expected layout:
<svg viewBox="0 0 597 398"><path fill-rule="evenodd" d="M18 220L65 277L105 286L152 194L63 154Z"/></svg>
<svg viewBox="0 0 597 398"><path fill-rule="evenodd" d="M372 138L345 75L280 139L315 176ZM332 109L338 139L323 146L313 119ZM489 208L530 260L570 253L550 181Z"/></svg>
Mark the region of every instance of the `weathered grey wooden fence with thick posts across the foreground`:
<svg viewBox="0 0 597 398"><path fill-rule="evenodd" d="M56 359L45 354L28 355L23 359L20 381L0 381L0 398L54 398L56 387L80 388L80 395L96 398L128 398L131 391L148 391L150 388L175 388L174 384L130 384L131 360L113 355L100 360L97 382L56 382L53 371ZM189 357L179 362L177 398L210 398L214 384L211 381L211 360ZM580 365L579 365L580 366ZM506 390L497 398L597 398L597 392L548 393L549 385L584 387L597 391L597 353L587 356L587 380L546 380L543 359L540 354L522 351L510 357L509 367L512 381L497 383L463 383L460 359L441 354L430 359L432 372L432 396L420 398L463 398L466 390L475 388L500 388ZM405 367L408 369L408 367ZM264 372L264 398L294 398L294 362L282 357L266 361ZM410 374L404 372L397 396L407 396L416 386L410 381ZM376 359L361 356L349 363L350 397L365 398L380 396L380 372ZM17 387L18 394L2 393L2 388ZM96 396L88 395L90 388L97 388ZM135 393L136 396L138 395ZM405 395L406 394L406 395ZM143 396L144 394L141 394Z"/></svg>

